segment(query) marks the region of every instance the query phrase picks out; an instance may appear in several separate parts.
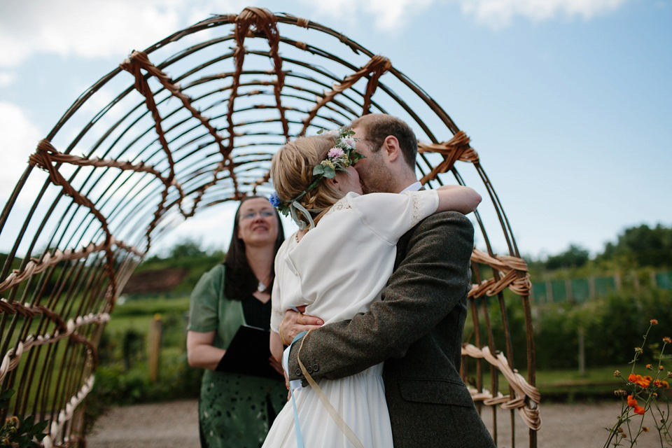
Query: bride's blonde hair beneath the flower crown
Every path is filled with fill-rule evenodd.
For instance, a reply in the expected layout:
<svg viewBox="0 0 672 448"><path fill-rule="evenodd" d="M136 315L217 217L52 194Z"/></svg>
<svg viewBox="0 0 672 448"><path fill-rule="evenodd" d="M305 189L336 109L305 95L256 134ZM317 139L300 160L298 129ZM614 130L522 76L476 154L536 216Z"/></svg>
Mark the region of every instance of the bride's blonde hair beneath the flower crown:
<svg viewBox="0 0 672 448"><path fill-rule="evenodd" d="M327 158L327 153L333 147L333 137L316 135L290 141L275 153L271 161L271 179L281 202L297 197L308 188L315 179L314 167ZM343 193L330 186L325 179L321 179L298 202L311 211L317 225L322 216L343 196ZM308 220L301 213L299 218L308 224Z"/></svg>

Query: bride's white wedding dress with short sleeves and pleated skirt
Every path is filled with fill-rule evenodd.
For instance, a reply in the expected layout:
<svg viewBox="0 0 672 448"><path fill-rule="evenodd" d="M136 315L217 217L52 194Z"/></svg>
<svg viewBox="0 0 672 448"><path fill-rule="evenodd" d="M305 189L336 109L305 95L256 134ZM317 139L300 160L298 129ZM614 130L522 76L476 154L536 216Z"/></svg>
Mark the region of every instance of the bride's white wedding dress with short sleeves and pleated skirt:
<svg viewBox="0 0 672 448"><path fill-rule="evenodd" d="M367 311L380 300L392 274L398 239L437 207L435 190L348 193L301 241L292 235L280 247L271 329L278 331L283 312L293 306L307 305L306 314L325 324ZM382 370L378 364L350 377L317 380L366 448L393 446ZM295 390L294 396L306 448L353 447L310 386ZM276 417L263 447L296 447L291 401Z"/></svg>

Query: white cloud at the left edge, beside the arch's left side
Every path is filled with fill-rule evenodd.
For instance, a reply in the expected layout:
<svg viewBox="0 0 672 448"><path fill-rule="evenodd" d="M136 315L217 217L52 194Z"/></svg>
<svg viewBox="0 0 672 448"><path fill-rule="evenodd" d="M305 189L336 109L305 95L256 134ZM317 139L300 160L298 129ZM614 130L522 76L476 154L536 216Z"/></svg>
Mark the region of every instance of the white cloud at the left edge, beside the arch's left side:
<svg viewBox="0 0 672 448"><path fill-rule="evenodd" d="M4 202L28 166L28 157L35 151L42 133L20 108L8 102L0 102L0 129L3 169L0 202Z"/></svg>

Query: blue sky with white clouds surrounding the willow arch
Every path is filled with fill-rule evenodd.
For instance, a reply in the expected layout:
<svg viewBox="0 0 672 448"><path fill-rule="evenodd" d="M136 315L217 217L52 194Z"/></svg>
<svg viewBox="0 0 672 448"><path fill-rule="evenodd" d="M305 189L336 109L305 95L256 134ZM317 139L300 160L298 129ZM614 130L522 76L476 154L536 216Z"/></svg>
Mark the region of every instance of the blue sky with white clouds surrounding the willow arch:
<svg viewBox="0 0 672 448"><path fill-rule="evenodd" d="M28 155L133 49L239 1L0 3L6 202ZM672 225L672 3L662 0L257 1L341 31L423 87L472 139L522 253L600 251L624 228ZM449 137L449 136L448 136ZM478 189L478 185L474 184ZM184 237L228 240L231 207ZM0 243L6 250L6 241ZM503 248L496 247L500 252Z"/></svg>

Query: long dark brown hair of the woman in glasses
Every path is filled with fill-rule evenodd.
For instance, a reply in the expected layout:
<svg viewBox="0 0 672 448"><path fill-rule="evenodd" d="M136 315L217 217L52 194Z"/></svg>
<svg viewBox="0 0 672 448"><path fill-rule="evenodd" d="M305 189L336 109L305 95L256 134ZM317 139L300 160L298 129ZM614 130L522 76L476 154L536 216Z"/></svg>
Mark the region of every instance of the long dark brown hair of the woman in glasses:
<svg viewBox="0 0 672 448"><path fill-rule="evenodd" d="M224 260L224 265L226 266L225 276L224 276L224 294L229 300L243 300L245 297L248 297L251 293L257 290L259 281L257 277L252 272L247 257L245 255L245 243L242 239L238 237L238 227L240 221L240 207L243 202L255 198L261 198L268 200L267 197L263 196L248 196L244 200L241 200L236 210L236 216L233 221L233 233L231 235L231 242L229 243L229 250L226 253L226 258ZM275 212L275 217L278 220L278 237L275 239L274 255L278 253L278 249L282 244L282 241L285 240L285 232L282 228L282 223L280 221L280 215L278 211L273 208ZM268 285L268 289L273 288L273 281L275 280L275 265L271 264L271 280Z"/></svg>

